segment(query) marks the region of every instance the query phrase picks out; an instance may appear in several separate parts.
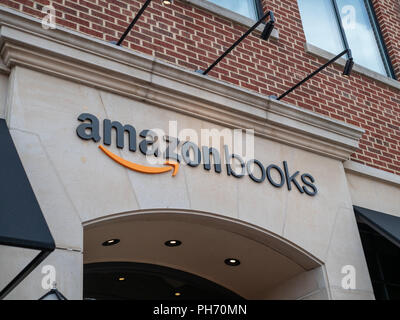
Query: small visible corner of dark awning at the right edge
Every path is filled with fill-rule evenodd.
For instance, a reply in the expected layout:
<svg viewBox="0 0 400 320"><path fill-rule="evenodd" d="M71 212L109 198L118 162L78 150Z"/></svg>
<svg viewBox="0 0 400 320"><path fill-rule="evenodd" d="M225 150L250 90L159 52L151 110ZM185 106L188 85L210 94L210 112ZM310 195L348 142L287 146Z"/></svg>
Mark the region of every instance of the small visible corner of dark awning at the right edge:
<svg viewBox="0 0 400 320"><path fill-rule="evenodd" d="M357 206L354 206L354 211L361 222L364 222L396 246L400 247L400 217Z"/></svg>

